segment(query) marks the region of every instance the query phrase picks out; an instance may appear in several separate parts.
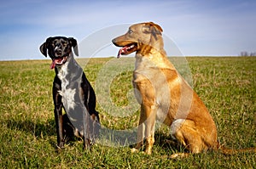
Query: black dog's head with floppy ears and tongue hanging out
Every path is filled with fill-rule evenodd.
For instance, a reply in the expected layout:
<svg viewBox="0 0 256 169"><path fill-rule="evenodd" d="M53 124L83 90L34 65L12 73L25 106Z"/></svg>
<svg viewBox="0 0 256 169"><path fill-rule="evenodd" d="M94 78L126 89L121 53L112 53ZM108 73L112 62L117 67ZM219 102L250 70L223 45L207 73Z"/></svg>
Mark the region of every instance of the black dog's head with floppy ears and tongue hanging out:
<svg viewBox="0 0 256 169"><path fill-rule="evenodd" d="M51 69L53 69L55 65L64 65L67 62L67 58L72 54L72 47L74 54L78 56L78 43L73 37L48 37L40 46L40 51L45 57L48 51L52 59Z"/></svg>

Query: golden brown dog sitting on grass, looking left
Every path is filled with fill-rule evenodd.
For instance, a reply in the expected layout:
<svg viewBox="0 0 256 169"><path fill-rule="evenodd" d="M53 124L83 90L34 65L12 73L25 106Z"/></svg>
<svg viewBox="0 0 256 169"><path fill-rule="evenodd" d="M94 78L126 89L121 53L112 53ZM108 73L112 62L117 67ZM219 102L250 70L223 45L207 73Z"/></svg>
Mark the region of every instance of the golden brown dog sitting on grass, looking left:
<svg viewBox="0 0 256 169"><path fill-rule="evenodd" d="M172 138L191 153L218 149L217 129L212 116L167 59L161 32L160 25L140 23L131 25L125 35L113 39L114 45L122 47L118 58L121 54L136 52L133 85L141 104L141 115L137 146L132 151L140 149L145 139L145 153L151 154L156 120L170 126ZM172 157L186 155L181 153Z"/></svg>

